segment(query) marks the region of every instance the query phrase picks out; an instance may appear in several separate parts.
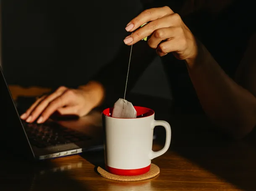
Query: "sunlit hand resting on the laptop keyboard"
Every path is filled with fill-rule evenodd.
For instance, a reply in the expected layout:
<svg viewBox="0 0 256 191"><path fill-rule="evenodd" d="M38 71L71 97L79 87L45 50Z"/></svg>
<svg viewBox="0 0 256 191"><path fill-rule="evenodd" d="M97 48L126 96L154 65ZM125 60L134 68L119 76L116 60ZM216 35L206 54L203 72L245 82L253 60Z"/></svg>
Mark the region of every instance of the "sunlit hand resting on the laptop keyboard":
<svg viewBox="0 0 256 191"><path fill-rule="evenodd" d="M45 122L54 112L60 115L77 115L79 117L88 114L103 101L104 89L96 81L90 81L78 89L59 87L49 95L43 95L37 99L29 109L21 115L26 122Z"/></svg>

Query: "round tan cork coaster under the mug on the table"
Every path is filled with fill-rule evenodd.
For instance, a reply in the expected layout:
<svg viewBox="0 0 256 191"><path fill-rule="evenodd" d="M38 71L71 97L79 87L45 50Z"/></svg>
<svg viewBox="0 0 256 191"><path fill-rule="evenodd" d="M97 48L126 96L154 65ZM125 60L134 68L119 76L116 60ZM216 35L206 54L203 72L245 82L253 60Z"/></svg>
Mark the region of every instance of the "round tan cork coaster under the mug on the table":
<svg viewBox="0 0 256 191"><path fill-rule="evenodd" d="M138 175L138 176L120 176L120 175L111 174L99 166L97 168L97 171L104 178L108 178L116 181L142 181L149 178L153 178L154 176L157 176L160 173L159 167L153 163L151 163L149 172L142 175Z"/></svg>

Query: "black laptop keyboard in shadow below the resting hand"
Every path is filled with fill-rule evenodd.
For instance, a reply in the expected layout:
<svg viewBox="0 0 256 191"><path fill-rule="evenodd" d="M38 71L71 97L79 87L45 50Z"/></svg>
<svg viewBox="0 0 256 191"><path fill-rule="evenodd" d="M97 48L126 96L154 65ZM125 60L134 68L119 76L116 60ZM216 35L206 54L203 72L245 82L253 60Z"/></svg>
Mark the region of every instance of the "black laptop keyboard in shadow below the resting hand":
<svg viewBox="0 0 256 191"><path fill-rule="evenodd" d="M71 130L57 124L52 127L52 125L47 123L36 124L23 122L23 126L30 144L37 146L38 148L77 143L91 139L84 133Z"/></svg>

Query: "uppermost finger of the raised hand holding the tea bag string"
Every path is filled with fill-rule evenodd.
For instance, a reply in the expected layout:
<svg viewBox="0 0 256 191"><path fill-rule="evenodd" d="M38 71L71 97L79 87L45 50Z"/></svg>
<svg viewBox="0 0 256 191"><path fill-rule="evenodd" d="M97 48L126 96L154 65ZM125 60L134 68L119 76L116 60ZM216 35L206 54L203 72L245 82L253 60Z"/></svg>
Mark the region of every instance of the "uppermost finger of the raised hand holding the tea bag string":
<svg viewBox="0 0 256 191"><path fill-rule="evenodd" d="M161 7L161 8L151 8L144 10L140 13L136 18L133 18L127 25L126 31L134 31L139 28L144 23L148 23L149 21L157 20L158 18L162 18L166 15L170 15L174 13L169 7Z"/></svg>

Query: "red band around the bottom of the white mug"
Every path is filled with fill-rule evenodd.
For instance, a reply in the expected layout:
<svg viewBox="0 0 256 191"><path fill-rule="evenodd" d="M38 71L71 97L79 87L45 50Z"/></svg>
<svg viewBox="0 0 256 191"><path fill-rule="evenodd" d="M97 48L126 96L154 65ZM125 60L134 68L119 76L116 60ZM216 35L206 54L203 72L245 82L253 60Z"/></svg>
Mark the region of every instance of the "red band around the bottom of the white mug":
<svg viewBox="0 0 256 191"><path fill-rule="evenodd" d="M150 165L146 166L144 168L138 168L138 169L118 169L118 168L112 168L107 165L105 165L106 170L115 175L120 175L120 176L137 176L141 174L145 174L150 170Z"/></svg>

